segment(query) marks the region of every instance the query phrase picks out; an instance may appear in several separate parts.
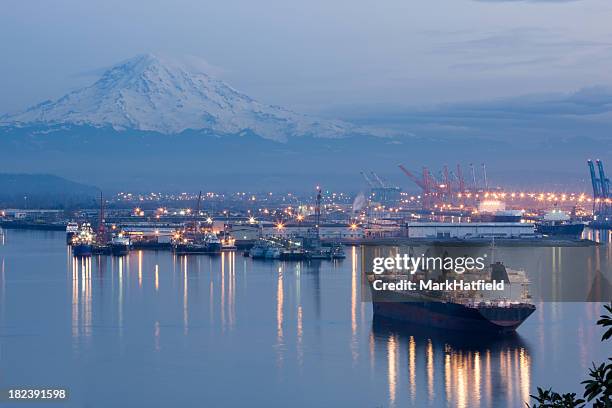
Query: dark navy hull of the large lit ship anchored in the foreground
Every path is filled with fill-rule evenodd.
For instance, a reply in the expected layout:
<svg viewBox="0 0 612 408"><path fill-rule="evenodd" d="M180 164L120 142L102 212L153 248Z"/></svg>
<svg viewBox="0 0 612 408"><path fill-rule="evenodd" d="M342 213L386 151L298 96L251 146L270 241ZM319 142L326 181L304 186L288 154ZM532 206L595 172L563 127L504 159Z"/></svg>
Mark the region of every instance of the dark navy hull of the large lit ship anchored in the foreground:
<svg viewBox="0 0 612 408"><path fill-rule="evenodd" d="M441 301L374 301L374 315L438 329L511 333L533 313L533 305L468 307Z"/></svg>

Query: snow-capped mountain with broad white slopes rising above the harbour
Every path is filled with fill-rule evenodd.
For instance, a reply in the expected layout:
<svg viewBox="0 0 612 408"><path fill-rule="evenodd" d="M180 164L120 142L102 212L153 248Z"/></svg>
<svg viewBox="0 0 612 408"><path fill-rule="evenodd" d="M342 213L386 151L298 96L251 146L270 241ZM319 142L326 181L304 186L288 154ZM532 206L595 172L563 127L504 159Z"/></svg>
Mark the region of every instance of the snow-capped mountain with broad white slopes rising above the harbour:
<svg viewBox="0 0 612 408"><path fill-rule="evenodd" d="M4 125L110 126L165 134L187 129L219 134L252 131L276 141L359 133L343 122L262 104L201 68L150 54L109 68L90 86L1 119Z"/></svg>

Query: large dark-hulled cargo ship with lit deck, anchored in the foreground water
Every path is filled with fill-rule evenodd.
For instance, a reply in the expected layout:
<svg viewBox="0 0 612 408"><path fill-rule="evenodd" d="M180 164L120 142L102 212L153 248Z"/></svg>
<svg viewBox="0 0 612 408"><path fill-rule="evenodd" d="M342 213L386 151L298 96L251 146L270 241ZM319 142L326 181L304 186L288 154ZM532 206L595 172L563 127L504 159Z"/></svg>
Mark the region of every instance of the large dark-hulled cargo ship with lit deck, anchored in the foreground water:
<svg viewBox="0 0 612 408"><path fill-rule="evenodd" d="M484 298L463 291L459 294L433 291L381 292L373 288L373 279L376 277L368 275L374 316L445 330L512 333L535 311L527 289L529 282L523 271L508 271L500 262L492 264L486 274L487 281L507 282L510 291L512 284L519 284L520 299ZM472 276L473 279L484 277L482 274ZM397 277L395 279L397 281Z"/></svg>

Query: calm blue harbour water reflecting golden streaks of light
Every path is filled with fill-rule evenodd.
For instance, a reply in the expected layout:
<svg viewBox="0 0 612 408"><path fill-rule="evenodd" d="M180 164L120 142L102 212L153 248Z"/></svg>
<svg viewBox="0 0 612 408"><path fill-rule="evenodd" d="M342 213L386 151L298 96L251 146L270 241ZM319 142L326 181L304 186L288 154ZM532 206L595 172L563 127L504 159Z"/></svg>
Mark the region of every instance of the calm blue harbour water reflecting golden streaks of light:
<svg viewBox="0 0 612 408"><path fill-rule="evenodd" d="M0 388L68 387L71 407L518 407L537 385L580 391L610 351L595 303L539 304L502 340L373 323L359 248L84 261L63 233L5 232Z"/></svg>

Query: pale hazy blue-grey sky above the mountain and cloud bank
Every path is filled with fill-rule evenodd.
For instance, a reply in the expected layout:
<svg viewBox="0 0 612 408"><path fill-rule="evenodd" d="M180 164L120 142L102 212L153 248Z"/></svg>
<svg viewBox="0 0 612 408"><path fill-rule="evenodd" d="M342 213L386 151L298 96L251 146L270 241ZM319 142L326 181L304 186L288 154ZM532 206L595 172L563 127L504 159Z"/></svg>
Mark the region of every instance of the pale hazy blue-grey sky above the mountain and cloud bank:
<svg viewBox="0 0 612 408"><path fill-rule="evenodd" d="M611 22L610 0L3 0L0 113L145 52L304 112L610 86Z"/></svg>

